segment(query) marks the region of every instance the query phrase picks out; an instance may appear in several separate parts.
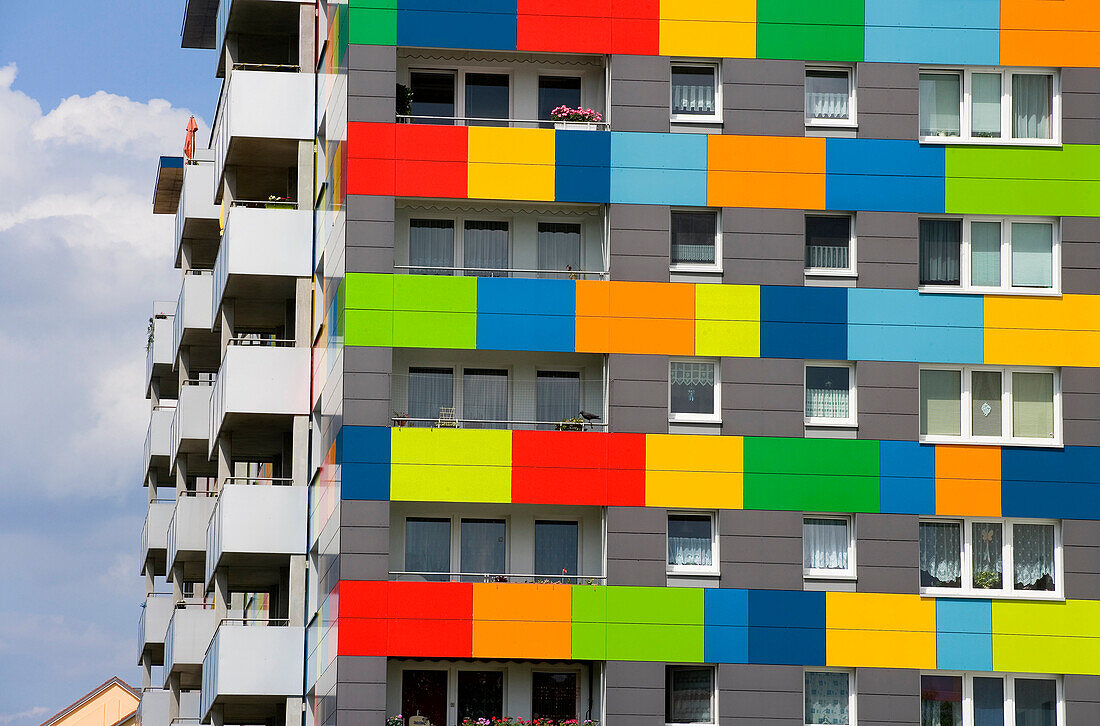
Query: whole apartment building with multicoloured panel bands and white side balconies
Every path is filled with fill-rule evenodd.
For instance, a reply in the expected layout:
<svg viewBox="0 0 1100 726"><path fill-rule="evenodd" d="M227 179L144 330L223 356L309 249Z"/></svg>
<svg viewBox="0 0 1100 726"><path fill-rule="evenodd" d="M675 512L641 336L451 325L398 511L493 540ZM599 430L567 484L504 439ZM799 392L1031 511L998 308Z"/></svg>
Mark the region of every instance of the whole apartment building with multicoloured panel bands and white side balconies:
<svg viewBox="0 0 1100 726"><path fill-rule="evenodd" d="M182 34L144 726L1100 723L1091 2Z"/></svg>

